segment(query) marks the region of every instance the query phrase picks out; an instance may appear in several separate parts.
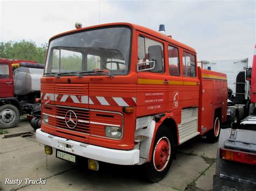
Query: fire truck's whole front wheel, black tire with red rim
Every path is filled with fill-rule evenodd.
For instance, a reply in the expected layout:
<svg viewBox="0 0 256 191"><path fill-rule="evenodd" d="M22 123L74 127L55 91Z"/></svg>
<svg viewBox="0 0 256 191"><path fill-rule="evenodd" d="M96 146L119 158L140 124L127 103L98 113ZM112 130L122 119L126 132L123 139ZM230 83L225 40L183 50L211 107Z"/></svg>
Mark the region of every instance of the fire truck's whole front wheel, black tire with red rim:
<svg viewBox="0 0 256 191"><path fill-rule="evenodd" d="M167 145L169 145L169 148ZM159 151L162 151L161 154ZM166 158L166 155L169 158ZM171 167L173 156L174 142L172 132L165 125L160 125L156 138L154 139L151 161L146 164L147 178L149 181L158 182L165 177ZM160 162L161 160L159 159L164 159L166 162Z"/></svg>

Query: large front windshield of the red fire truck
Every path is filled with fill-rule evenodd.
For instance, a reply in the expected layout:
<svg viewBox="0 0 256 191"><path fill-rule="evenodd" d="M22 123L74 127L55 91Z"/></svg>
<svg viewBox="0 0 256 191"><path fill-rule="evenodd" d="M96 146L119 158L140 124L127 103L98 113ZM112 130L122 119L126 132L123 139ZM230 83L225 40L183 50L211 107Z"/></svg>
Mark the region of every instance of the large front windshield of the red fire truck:
<svg viewBox="0 0 256 191"><path fill-rule="evenodd" d="M45 73L102 70L112 75L129 72L131 30L110 27L68 34L50 42Z"/></svg>

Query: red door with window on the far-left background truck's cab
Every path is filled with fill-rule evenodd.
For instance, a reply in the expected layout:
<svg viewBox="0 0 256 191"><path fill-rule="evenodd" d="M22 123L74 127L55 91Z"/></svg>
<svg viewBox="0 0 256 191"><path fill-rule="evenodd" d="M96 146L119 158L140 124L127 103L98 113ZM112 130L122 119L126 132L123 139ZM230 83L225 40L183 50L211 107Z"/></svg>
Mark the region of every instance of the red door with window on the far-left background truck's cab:
<svg viewBox="0 0 256 191"><path fill-rule="evenodd" d="M14 97L14 79L11 64L0 63L0 97Z"/></svg>

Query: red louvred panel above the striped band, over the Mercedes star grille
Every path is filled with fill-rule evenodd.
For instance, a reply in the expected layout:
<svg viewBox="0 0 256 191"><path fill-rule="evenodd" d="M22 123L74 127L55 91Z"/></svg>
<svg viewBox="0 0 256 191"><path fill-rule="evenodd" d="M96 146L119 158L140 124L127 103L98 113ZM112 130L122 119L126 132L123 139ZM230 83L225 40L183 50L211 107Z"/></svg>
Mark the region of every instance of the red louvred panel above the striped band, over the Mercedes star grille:
<svg viewBox="0 0 256 191"><path fill-rule="evenodd" d="M65 84L59 83L56 85L56 94L68 95L86 95L88 90L87 84Z"/></svg>

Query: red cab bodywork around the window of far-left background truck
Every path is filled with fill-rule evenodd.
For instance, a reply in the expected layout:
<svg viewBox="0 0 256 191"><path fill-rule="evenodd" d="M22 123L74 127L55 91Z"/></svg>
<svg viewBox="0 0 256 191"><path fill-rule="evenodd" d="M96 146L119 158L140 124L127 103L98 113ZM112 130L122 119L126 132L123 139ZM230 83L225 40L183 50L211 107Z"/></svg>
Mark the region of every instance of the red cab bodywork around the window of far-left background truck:
<svg viewBox="0 0 256 191"><path fill-rule="evenodd" d="M3 65L8 65L9 67L9 78L0 78L0 98L3 97L14 97L14 77L12 76L12 60L0 59L0 67Z"/></svg>

